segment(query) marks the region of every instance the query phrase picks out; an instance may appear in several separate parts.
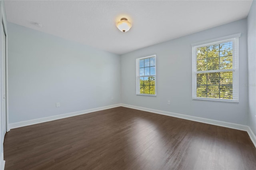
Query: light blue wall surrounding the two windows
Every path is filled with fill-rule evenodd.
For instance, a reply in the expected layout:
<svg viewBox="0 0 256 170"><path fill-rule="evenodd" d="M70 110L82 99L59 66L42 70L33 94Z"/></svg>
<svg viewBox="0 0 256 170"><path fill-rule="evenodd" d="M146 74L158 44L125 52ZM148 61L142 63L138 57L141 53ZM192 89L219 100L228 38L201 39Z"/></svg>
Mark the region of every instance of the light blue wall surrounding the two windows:
<svg viewBox="0 0 256 170"><path fill-rule="evenodd" d="M182 29L182 28L181 28ZM192 100L192 43L242 33L239 39L239 104ZM136 95L136 58L156 53L157 96ZM121 55L122 103L247 125L247 20L152 45ZM167 105L167 100L171 105Z"/></svg>

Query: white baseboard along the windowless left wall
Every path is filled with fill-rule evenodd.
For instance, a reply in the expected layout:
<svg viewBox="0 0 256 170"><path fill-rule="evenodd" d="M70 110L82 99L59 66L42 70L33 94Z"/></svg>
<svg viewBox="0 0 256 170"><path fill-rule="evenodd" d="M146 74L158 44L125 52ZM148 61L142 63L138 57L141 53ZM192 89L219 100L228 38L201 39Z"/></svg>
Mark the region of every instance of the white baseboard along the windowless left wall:
<svg viewBox="0 0 256 170"><path fill-rule="evenodd" d="M86 114L86 113L102 111L102 110L111 109L111 108L120 107L120 106L121 106L120 104L109 105L109 106L98 107L98 108L94 108L94 109L88 109L88 110L84 110L84 111L66 113L66 114L62 114L62 115L44 117L44 118L40 118L40 119L33 119L33 120L22 121L22 122L17 122L17 123L10 123L9 128L12 129L12 128L24 127L24 126L28 126L28 125L35 125L35 124L38 124L38 123L54 121L54 120L57 120L57 119L63 119L63 118L67 118L67 117L77 116L77 115L83 115L83 114Z"/></svg>

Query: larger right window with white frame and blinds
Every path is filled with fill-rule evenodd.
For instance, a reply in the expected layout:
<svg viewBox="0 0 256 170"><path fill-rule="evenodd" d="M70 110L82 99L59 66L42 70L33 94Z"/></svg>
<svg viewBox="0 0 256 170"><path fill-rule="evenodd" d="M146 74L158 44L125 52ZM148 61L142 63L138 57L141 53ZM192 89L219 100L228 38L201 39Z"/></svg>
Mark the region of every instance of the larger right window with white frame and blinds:
<svg viewBox="0 0 256 170"><path fill-rule="evenodd" d="M192 44L192 98L238 103L238 37Z"/></svg>

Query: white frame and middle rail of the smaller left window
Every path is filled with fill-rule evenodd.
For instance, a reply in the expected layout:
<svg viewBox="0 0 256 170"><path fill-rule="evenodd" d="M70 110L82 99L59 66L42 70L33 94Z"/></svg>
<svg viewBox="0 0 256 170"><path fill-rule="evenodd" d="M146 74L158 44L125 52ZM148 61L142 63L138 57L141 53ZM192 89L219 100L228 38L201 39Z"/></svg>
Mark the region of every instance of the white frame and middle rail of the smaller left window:
<svg viewBox="0 0 256 170"><path fill-rule="evenodd" d="M136 95L156 96L156 74L155 75L140 76L140 60L141 59L146 59L146 58L152 58L152 57L155 57L155 60L156 60L156 54L148 55L146 57L140 57L140 58L136 59ZM156 66L155 66L155 68L156 68ZM142 94L142 93L140 93L140 77L150 77L150 76L155 77L155 94Z"/></svg>

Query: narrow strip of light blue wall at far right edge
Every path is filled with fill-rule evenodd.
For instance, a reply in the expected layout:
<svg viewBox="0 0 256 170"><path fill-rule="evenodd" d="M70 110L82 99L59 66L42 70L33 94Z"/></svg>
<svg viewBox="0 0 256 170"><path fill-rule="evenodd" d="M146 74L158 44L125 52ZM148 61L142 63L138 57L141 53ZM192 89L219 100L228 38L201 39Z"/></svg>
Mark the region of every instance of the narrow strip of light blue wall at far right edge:
<svg viewBox="0 0 256 170"><path fill-rule="evenodd" d="M247 17L248 26L248 96L249 126L256 134L256 1L252 2Z"/></svg>

